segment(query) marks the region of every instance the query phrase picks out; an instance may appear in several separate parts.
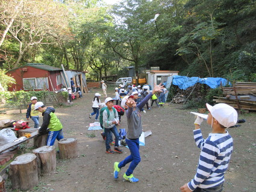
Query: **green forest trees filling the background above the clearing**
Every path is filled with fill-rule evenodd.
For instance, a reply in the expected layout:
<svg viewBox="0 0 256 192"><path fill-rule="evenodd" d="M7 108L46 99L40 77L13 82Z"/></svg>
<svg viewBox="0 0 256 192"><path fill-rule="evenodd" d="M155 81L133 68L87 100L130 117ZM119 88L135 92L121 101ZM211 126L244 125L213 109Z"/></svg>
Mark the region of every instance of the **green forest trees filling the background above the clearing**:
<svg viewBox="0 0 256 192"><path fill-rule="evenodd" d="M44 63L102 76L134 66L256 81L250 0L0 0L0 66Z"/></svg>

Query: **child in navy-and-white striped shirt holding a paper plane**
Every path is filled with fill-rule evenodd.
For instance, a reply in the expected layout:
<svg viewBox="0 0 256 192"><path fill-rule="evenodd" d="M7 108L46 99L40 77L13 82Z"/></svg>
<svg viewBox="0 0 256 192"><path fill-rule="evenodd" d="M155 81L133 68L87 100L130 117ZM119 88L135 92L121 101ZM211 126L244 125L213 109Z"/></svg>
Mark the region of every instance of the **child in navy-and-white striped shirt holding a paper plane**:
<svg viewBox="0 0 256 192"><path fill-rule="evenodd" d="M180 190L186 191L222 191L224 173L228 170L231 153L233 151L233 138L226 128L237 123L237 111L226 104L217 104L213 107L206 104L210 113L207 124L211 125L211 133L204 140L200 125L202 117L195 120L194 138L196 145L201 149L198 169L195 178L184 184Z"/></svg>

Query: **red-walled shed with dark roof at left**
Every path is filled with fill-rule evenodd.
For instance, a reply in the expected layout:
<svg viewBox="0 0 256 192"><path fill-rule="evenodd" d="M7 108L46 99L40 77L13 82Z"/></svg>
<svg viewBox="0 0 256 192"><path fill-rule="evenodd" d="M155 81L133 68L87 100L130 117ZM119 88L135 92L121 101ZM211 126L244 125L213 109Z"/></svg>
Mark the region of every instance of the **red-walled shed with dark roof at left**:
<svg viewBox="0 0 256 192"><path fill-rule="evenodd" d="M73 79L75 84L83 85L86 87L85 72L77 70L67 70L66 74L63 69L48 66L43 63L27 63L23 66L11 69L7 75L13 76L16 84L8 88L9 91L18 90L49 90L57 91L63 87L70 87L70 78Z"/></svg>

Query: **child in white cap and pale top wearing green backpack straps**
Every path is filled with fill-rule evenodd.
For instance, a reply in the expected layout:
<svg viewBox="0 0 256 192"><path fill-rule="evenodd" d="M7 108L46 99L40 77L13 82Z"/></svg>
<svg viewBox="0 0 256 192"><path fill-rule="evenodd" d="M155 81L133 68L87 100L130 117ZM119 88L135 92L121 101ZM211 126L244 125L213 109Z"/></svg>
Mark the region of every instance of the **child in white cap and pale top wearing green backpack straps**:
<svg viewBox="0 0 256 192"><path fill-rule="evenodd" d="M122 153L122 150L119 149L119 134L117 132L116 129L116 124L119 125L119 118L118 118L118 114L117 111L116 113L114 113L113 110L113 105L114 105L114 100L112 98L107 98L105 99L105 104L107 105L107 109L103 111L102 115L103 115L103 126L104 126L104 135L106 136L106 140L105 140L105 145L106 145L106 153L109 154L113 154L114 151L117 153ZM108 116L108 112L109 111L109 116ZM115 137L115 142L114 142L114 151L111 150L110 148L110 140L112 135L110 134L111 132L113 132L114 137Z"/></svg>

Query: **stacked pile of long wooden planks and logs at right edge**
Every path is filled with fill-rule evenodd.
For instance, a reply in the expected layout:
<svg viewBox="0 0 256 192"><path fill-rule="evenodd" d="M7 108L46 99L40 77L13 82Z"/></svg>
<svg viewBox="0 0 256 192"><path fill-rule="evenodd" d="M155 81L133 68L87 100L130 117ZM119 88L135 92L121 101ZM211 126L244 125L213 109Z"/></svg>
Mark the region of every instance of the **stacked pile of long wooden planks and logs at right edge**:
<svg viewBox="0 0 256 192"><path fill-rule="evenodd" d="M236 82L234 87L223 87L224 97L213 101L225 103L239 110L256 111L256 82Z"/></svg>

